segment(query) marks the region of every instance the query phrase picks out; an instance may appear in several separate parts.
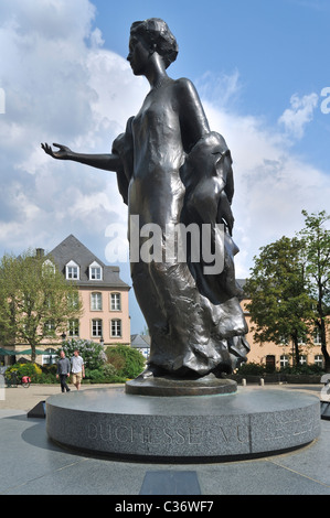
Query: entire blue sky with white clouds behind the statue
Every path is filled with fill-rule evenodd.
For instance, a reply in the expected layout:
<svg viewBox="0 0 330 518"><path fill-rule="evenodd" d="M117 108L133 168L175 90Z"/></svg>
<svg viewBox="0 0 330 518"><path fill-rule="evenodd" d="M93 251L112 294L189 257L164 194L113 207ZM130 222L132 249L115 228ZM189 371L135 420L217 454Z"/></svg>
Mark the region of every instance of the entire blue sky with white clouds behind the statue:
<svg viewBox="0 0 330 518"><path fill-rule="evenodd" d="M237 277L260 246L301 228L301 209L329 212L328 0L1 0L1 255L74 234L118 259L127 215L114 175L52 161L40 142L110 151L148 91L126 56L131 22L151 17L179 43L169 74L193 80L232 151ZM132 333L143 325L131 294Z"/></svg>

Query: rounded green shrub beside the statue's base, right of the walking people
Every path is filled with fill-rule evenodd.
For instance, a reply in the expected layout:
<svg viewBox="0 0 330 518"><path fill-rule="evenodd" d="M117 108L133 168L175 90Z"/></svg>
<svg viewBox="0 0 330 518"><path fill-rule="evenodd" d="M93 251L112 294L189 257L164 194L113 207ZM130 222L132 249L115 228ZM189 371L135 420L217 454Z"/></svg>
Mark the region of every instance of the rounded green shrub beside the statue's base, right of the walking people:
<svg viewBox="0 0 330 518"><path fill-rule="evenodd" d="M119 376L136 378L145 368L143 355L128 345L107 347L105 353L108 363L116 367Z"/></svg>

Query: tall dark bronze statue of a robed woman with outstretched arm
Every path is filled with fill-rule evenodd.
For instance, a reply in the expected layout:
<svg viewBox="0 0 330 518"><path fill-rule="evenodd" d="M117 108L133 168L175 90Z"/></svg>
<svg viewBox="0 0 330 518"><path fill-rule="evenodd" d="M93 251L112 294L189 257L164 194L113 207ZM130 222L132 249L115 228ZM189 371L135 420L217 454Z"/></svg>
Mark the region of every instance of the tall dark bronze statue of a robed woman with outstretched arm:
<svg viewBox="0 0 330 518"><path fill-rule="evenodd" d="M209 225L213 246L216 225L224 225L220 273L206 274L202 259L193 261L190 252L185 261L131 261L135 293L151 337L143 376L221 377L245 361L249 349L234 273L238 250L232 240L232 159L224 139L210 130L192 83L168 76L177 54L177 41L162 20L135 22L127 60L135 75L147 77L150 91L111 153L42 148L54 159L117 173L129 222L135 216L139 225L134 231L140 247L147 240L140 229L148 224L160 228L162 249L171 225Z"/></svg>

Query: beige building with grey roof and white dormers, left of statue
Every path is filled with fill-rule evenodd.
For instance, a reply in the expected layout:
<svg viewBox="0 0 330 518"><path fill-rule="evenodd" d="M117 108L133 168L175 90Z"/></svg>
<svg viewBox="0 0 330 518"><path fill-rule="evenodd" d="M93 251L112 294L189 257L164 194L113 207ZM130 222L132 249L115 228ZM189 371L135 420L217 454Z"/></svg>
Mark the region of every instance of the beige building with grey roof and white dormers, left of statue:
<svg viewBox="0 0 330 518"><path fill-rule="evenodd" d="M36 250L43 255L43 249ZM83 314L68 323L67 331L57 339L44 341L38 350L39 364L53 361L55 350L64 338L82 338L100 342L105 347L116 344L130 344L130 317L128 293L130 287L119 277L119 268L107 266L86 248L76 237L70 235L50 253L52 261L67 281L75 281L83 303ZM46 259L50 261L50 259ZM29 347L17 344L19 353ZM29 355L24 355L30 359Z"/></svg>

